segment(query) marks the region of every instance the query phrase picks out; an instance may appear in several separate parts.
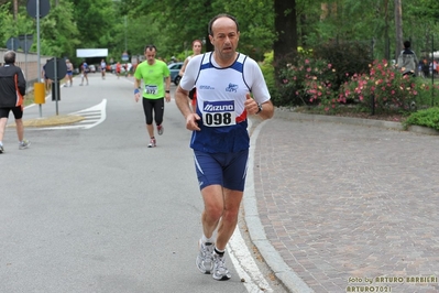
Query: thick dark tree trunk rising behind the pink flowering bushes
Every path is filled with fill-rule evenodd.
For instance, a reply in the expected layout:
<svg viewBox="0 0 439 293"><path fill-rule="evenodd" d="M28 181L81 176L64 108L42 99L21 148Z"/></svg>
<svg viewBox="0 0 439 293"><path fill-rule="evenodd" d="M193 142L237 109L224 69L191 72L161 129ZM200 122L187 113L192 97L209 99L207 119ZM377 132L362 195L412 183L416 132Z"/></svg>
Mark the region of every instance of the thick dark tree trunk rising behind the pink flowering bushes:
<svg viewBox="0 0 439 293"><path fill-rule="evenodd" d="M274 12L277 40L273 44L273 50L276 76L278 76L278 66L297 55L296 0L275 0ZM276 79L278 80L278 78Z"/></svg>

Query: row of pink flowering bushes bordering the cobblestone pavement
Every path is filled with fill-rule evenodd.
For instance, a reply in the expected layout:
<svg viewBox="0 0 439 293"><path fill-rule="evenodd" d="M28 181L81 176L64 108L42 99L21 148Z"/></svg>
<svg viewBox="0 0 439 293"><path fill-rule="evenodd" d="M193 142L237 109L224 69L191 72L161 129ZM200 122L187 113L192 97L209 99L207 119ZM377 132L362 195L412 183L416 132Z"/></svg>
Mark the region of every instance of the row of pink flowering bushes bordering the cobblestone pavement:
<svg viewBox="0 0 439 293"><path fill-rule="evenodd" d="M385 59L374 61L360 74L341 74L330 62L305 55L283 68L276 88L282 105L316 106L318 112L336 113L347 104L355 111L371 112L373 106L376 113L408 112L439 100L439 85L403 76Z"/></svg>

